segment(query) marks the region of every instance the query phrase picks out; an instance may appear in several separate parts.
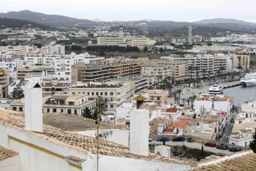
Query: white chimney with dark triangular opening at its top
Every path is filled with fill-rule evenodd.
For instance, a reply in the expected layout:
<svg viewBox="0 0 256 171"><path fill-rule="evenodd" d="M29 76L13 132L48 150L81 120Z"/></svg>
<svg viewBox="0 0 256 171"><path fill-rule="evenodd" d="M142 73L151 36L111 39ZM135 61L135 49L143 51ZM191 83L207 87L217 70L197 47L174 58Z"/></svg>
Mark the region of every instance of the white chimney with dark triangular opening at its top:
<svg viewBox="0 0 256 171"><path fill-rule="evenodd" d="M42 87L37 81L28 81L24 93L25 129L43 132Z"/></svg>

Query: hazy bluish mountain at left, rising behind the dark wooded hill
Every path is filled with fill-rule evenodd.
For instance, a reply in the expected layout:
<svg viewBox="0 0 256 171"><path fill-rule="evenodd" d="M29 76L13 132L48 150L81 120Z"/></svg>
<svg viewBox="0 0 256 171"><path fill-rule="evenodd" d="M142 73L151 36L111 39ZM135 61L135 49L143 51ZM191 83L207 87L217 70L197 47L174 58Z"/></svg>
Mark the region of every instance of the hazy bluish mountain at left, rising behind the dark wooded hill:
<svg viewBox="0 0 256 171"><path fill-rule="evenodd" d="M8 13L0 13L0 17L7 17L10 19L30 20L42 25L49 26L92 26L95 22L86 19L75 19L72 17L60 15L48 15L43 13L36 13L29 10L11 11Z"/></svg>

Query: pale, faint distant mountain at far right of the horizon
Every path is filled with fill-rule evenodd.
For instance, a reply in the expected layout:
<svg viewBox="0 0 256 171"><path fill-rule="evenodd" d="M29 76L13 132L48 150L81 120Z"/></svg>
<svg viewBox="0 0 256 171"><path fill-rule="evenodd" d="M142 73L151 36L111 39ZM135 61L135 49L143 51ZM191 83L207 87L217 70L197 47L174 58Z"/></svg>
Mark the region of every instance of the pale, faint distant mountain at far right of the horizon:
<svg viewBox="0 0 256 171"><path fill-rule="evenodd" d="M199 20L197 22L193 23L236 23L236 24L241 24L241 25L254 25L256 26L256 23L253 22L245 22L243 20L237 20L237 19L223 19L223 18L217 18L217 19L205 19L205 20Z"/></svg>

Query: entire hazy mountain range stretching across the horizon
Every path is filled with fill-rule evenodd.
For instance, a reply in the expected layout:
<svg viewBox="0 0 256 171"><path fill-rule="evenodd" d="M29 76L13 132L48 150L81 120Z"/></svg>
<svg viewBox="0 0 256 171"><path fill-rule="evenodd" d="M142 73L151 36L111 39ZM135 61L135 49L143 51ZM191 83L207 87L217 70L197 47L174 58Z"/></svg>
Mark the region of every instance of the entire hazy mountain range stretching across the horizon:
<svg viewBox="0 0 256 171"><path fill-rule="evenodd" d="M11 11L8 13L0 13L0 18L10 18L19 20L28 20L31 22L36 22L41 25L47 26L66 26L75 28L89 28L92 26L110 26L113 29L118 29L117 27L122 24L125 28L133 28L136 30L149 30L158 32L159 34L171 33L177 31L176 29L185 29L187 25L198 26L203 30L203 33L207 31L232 31L232 33L255 33L256 23L245 22L243 20L236 19L205 19L199 20L197 22L174 22L172 20L134 20L134 21L110 21L105 22L100 19L76 19L73 17L66 17L60 15L49 15L43 13L36 13L33 11L23 10L23 11ZM194 32L195 33L195 32ZM198 33L199 34L199 33Z"/></svg>

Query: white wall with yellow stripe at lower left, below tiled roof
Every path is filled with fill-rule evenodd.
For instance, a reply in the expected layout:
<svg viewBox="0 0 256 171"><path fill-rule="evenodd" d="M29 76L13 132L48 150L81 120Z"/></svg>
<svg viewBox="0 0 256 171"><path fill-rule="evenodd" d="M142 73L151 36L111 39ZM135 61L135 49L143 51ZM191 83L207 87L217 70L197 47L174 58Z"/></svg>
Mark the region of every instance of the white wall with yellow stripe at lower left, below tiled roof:
<svg viewBox="0 0 256 171"><path fill-rule="evenodd" d="M8 135L17 138L19 141L8 138ZM85 160L87 159L87 152L76 151L76 149L56 143L51 138L46 139L46 137L44 138L40 134L33 132L28 134L26 131L1 124L0 140L0 146L19 152L20 171L73 171L73 168L72 170L69 169L69 164L64 158L57 157L57 155L63 157L74 155ZM26 142L27 144L21 143L20 141ZM54 152L57 155L49 154L46 151Z"/></svg>

